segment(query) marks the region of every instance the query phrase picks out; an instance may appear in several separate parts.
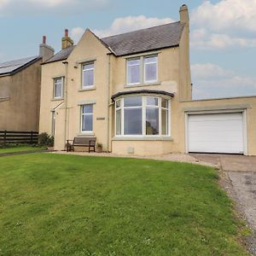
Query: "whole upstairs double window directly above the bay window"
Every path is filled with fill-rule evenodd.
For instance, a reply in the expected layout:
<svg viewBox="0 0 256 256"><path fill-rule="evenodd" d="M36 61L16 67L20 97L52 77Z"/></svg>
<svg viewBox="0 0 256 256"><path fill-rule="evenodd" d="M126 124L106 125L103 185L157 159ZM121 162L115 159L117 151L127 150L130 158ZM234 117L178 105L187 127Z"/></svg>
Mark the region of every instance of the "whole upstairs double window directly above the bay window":
<svg viewBox="0 0 256 256"><path fill-rule="evenodd" d="M150 84L158 80L158 56L143 56L126 61L127 84Z"/></svg>

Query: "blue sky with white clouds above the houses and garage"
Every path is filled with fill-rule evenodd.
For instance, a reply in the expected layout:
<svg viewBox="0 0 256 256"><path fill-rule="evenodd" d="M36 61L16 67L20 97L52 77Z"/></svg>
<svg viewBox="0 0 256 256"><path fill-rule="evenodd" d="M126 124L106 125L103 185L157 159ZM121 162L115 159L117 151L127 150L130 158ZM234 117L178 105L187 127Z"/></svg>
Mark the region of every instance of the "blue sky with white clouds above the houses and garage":
<svg viewBox="0 0 256 256"><path fill-rule="evenodd" d="M190 19L193 98L256 96L256 0L0 0L0 62L61 49L87 27L99 37Z"/></svg>

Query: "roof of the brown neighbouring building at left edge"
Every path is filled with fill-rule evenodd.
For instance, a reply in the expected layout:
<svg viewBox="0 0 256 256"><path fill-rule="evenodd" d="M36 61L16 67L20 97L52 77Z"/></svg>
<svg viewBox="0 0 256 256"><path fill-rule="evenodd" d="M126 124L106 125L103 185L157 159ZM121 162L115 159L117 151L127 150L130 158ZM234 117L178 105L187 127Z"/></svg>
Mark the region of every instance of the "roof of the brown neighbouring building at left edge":
<svg viewBox="0 0 256 256"><path fill-rule="evenodd" d="M41 59L40 56L32 56L15 61L6 61L0 63L0 75L9 75L19 72L21 69L31 65L39 59Z"/></svg>

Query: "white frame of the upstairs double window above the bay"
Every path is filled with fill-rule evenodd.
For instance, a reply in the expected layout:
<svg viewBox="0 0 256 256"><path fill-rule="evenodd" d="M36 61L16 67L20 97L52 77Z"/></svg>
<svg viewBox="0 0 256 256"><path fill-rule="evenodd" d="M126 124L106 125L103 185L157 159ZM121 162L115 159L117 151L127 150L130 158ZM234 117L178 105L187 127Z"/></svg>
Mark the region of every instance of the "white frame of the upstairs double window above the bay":
<svg viewBox="0 0 256 256"><path fill-rule="evenodd" d="M152 63L145 63L145 59L151 58L151 57L156 57L156 62L152 62L152 63L156 63L156 79L155 80L146 80L146 65L147 64L152 64ZM133 85L139 85L139 84L154 84L158 82L158 58L159 55L143 55L140 57L132 57L132 58L127 58L126 59L126 84L128 86L133 86ZM129 73L129 69L128 69L128 63L129 61L135 61L135 60L139 60L140 61L140 81L138 83L129 83L128 81L128 73Z"/></svg>

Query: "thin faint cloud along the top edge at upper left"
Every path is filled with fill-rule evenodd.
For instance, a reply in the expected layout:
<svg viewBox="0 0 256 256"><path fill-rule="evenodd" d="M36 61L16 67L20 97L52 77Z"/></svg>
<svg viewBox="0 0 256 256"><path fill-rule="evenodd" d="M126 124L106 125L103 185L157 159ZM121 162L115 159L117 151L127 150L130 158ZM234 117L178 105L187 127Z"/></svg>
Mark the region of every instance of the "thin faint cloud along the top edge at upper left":
<svg viewBox="0 0 256 256"><path fill-rule="evenodd" d="M41 15L49 13L81 14L91 9L104 9L110 0L0 0L0 16Z"/></svg>

